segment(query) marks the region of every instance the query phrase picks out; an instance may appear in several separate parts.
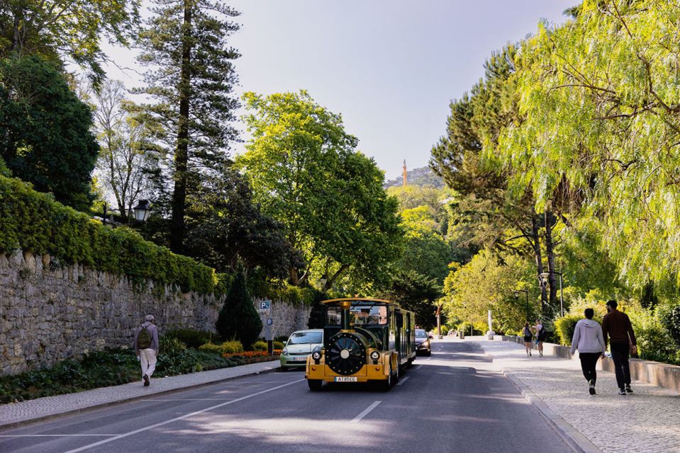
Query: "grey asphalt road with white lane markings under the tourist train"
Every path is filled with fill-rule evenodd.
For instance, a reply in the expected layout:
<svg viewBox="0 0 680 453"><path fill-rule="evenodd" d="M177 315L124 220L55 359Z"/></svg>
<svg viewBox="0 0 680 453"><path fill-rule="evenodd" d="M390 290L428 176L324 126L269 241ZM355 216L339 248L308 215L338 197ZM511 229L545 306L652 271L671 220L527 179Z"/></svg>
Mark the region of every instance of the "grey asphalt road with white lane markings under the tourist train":
<svg viewBox="0 0 680 453"><path fill-rule="evenodd" d="M475 343L435 342L390 391L277 372L0 431L2 453L572 452Z"/></svg>

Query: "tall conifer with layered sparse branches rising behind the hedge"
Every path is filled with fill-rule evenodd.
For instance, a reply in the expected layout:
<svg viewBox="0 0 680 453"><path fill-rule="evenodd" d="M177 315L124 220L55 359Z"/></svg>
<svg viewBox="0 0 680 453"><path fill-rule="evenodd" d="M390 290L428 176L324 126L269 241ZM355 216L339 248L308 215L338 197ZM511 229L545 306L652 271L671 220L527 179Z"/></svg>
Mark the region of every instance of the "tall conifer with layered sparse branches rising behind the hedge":
<svg viewBox="0 0 680 453"><path fill-rule="evenodd" d="M221 1L155 0L153 16L140 33L139 61L152 69L147 86L138 90L155 100L150 112L164 125L167 162L174 181L169 246L182 253L188 192L200 180L218 177L237 132L237 82L233 60L240 55L227 45L239 25L238 12ZM165 188L168 190L169 188Z"/></svg>

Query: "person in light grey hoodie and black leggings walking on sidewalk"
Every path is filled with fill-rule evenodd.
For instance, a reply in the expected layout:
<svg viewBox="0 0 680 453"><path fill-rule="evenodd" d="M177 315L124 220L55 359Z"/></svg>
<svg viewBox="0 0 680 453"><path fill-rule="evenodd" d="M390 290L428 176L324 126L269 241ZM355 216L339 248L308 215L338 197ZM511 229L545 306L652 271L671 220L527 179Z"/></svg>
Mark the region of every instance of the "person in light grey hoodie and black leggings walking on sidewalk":
<svg viewBox="0 0 680 453"><path fill-rule="evenodd" d="M574 328L572 338L572 355L579 350L579 360L581 360L581 370L586 377L589 385L589 393L595 394L595 382L597 373L595 365L600 357L604 357L604 337L602 328L597 321L593 320L593 309L586 309L584 315L586 319L581 319Z"/></svg>

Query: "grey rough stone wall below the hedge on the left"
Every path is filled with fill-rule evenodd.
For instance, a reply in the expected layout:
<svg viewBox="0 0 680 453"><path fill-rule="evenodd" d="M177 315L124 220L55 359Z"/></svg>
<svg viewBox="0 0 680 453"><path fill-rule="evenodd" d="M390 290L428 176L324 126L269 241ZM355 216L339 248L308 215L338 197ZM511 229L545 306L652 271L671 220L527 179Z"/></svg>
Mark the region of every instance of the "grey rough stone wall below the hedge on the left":
<svg viewBox="0 0 680 453"><path fill-rule="evenodd" d="M211 294L183 293L174 285L140 285L82 265L57 265L48 255L0 253L0 374L131 345L150 313L161 334L172 328L214 331L222 304ZM261 316L264 322L267 316ZM308 316L308 307L272 302L269 317L278 336L306 328Z"/></svg>

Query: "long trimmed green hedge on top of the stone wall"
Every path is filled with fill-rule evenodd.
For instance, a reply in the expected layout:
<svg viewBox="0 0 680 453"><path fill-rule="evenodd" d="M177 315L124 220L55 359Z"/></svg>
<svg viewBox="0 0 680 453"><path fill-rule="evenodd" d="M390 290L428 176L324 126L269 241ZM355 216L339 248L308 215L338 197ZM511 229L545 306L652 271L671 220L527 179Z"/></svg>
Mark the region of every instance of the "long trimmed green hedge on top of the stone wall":
<svg viewBox="0 0 680 453"><path fill-rule="evenodd" d="M221 293L228 287L228 278L213 268L145 241L130 228L108 228L21 180L0 176L0 252L16 249L48 253L55 264L80 263L133 281L179 285L185 292Z"/></svg>

